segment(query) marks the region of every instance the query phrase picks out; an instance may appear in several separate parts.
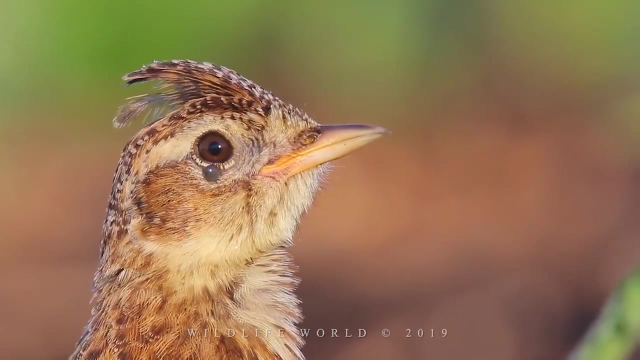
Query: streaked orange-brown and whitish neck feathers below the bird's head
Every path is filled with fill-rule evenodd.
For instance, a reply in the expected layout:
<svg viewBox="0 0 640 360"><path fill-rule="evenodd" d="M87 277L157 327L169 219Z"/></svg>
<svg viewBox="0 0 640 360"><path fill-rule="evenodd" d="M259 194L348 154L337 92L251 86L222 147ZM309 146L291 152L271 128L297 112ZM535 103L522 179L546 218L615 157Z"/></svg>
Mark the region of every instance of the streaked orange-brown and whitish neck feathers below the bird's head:
<svg viewBox="0 0 640 360"><path fill-rule="evenodd" d="M284 247L191 271L118 248L96 274L92 316L70 359L304 359Z"/></svg>

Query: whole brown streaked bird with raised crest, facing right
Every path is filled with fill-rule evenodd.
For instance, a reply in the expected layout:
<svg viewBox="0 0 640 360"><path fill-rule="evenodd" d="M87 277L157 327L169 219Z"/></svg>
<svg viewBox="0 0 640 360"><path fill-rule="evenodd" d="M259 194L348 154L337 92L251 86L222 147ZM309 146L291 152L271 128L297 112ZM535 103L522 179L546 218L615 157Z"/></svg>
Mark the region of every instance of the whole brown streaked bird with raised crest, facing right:
<svg viewBox="0 0 640 360"><path fill-rule="evenodd" d="M154 115L120 155L69 359L305 359L287 247L331 162L387 129L321 125L207 62L154 61L123 79L156 86L114 126Z"/></svg>

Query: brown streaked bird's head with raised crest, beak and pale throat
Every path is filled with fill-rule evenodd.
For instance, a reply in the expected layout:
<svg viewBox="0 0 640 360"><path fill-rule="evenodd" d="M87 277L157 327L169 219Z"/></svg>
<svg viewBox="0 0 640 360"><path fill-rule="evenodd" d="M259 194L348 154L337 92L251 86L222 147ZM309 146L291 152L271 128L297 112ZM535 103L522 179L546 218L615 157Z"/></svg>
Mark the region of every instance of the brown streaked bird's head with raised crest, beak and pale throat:
<svg viewBox="0 0 640 360"><path fill-rule="evenodd" d="M127 143L104 227L172 267L241 266L288 245L328 163L386 132L317 124L233 70L154 62L124 77L159 81L114 119L123 126L156 103L169 111ZM129 247L130 251L131 247Z"/></svg>

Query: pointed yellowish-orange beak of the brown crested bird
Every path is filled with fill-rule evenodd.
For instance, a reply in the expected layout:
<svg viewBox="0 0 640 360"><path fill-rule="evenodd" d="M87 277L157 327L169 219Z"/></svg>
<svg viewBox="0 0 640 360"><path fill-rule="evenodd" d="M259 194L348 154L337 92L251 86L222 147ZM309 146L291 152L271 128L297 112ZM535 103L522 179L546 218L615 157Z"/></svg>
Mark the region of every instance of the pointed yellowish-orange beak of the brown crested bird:
<svg viewBox="0 0 640 360"><path fill-rule="evenodd" d="M280 173L289 178L310 168L342 158L383 134L389 133L387 129L380 126L360 124L321 125L319 128L320 135L316 142L282 156L275 163L262 168L260 174L269 176Z"/></svg>

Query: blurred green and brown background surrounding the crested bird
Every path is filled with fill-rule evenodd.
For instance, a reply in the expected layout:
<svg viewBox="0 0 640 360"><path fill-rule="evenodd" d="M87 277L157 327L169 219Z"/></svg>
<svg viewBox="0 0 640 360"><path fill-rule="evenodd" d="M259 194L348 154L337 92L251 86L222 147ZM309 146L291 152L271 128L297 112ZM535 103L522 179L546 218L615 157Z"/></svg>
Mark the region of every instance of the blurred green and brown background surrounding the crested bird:
<svg viewBox="0 0 640 360"><path fill-rule="evenodd" d="M4 359L67 359L82 332L140 127L111 126L141 91L120 78L153 60L225 65L319 122L393 131L337 162L296 236L302 326L367 329L310 337L310 360L562 359L640 259L637 0L0 8Z"/></svg>

